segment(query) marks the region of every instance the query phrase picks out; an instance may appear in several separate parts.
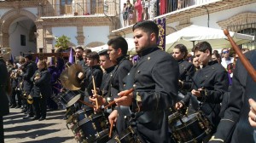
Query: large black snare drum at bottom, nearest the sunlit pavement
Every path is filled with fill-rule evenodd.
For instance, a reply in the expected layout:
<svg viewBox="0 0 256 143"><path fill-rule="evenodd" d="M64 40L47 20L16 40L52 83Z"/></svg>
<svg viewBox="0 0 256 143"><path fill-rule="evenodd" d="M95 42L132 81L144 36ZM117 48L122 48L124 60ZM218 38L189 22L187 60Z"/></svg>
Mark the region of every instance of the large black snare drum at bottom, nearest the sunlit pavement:
<svg viewBox="0 0 256 143"><path fill-rule="evenodd" d="M81 118L80 118L81 119ZM83 141L94 142L96 140L104 140L107 142L106 133L108 134L108 118L103 112L92 114L89 117L79 119L79 134Z"/></svg>

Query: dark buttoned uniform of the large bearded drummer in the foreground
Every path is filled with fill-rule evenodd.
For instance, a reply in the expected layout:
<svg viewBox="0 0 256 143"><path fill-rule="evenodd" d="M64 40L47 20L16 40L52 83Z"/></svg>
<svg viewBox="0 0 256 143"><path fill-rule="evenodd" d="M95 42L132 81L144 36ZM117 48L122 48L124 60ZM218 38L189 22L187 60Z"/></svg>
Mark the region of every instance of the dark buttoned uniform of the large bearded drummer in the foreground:
<svg viewBox="0 0 256 143"><path fill-rule="evenodd" d="M143 140L155 143L170 141L166 109L176 102L178 75L177 61L172 55L159 48L148 48L143 50L140 60L126 77L125 89L134 87L132 112L137 111L137 102L141 99L136 123ZM129 78L134 78L132 83Z"/></svg>

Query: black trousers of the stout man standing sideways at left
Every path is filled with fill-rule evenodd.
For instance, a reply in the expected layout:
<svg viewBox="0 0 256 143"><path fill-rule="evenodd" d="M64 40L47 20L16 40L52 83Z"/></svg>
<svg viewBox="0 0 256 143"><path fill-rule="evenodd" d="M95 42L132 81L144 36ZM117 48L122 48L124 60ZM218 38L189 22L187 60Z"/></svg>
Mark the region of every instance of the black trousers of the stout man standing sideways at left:
<svg viewBox="0 0 256 143"><path fill-rule="evenodd" d="M46 99L44 97L33 97L33 100L36 117L46 117Z"/></svg>

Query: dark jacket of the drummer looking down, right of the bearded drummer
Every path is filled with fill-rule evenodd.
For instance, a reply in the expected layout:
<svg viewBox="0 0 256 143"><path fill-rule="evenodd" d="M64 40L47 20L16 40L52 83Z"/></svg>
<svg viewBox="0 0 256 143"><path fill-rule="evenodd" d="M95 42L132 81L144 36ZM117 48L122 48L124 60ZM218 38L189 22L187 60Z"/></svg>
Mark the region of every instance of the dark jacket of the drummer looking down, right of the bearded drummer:
<svg viewBox="0 0 256 143"><path fill-rule="evenodd" d="M200 70L195 72L194 77L195 84L193 84L192 89L205 89L201 93L201 97L196 98L192 94L188 94L183 99L184 103L188 103L190 98L192 102L201 101L201 111L204 112L208 119L215 125L218 125L220 118L218 114L220 112L220 103L223 98L223 94L228 91L229 79L228 73L225 71L224 67L218 64L217 61L210 61L207 66L204 66ZM197 103L196 103L197 104ZM192 103L195 105L195 103ZM198 109L194 107L194 110Z"/></svg>

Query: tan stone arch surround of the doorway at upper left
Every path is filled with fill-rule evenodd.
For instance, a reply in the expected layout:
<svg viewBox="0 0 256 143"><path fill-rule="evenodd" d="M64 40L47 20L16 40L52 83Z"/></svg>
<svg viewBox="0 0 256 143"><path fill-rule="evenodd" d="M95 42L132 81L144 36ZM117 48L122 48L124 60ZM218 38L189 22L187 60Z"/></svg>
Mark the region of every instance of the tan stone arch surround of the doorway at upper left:
<svg viewBox="0 0 256 143"><path fill-rule="evenodd" d="M3 14L1 20L0 20L0 29L1 29L1 35L0 35L0 46L1 47L10 47L10 33L9 28L12 26L12 24L17 20L16 23L18 23L19 20L29 20L32 23L35 23L37 20L37 17L35 14L32 14L31 12L25 10L25 9L12 9ZM31 31L32 32L32 31ZM27 39L29 37L26 37Z"/></svg>

